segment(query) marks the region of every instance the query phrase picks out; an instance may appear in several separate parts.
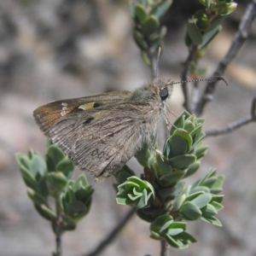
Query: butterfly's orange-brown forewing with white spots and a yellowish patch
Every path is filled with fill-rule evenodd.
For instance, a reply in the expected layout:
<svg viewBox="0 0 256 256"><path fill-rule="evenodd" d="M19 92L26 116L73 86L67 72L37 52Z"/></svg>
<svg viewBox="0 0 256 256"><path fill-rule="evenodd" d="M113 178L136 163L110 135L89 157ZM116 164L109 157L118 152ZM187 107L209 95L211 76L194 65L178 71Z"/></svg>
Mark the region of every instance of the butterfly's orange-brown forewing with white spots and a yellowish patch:
<svg viewBox="0 0 256 256"><path fill-rule="evenodd" d="M33 112L34 119L46 136L49 136L49 129L62 119L66 119L71 113L81 111L90 111L95 108L112 105L116 102L122 102L130 91L113 91L97 96L81 97L76 99L67 99L55 102L49 102L44 106L37 108Z"/></svg>

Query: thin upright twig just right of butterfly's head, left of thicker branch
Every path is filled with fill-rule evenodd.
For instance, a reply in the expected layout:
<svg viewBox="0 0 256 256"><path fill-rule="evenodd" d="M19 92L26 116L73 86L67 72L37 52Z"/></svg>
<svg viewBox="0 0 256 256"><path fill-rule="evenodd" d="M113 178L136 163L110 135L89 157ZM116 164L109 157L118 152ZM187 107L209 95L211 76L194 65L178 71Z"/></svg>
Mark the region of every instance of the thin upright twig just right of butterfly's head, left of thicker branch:
<svg viewBox="0 0 256 256"><path fill-rule="evenodd" d="M197 46L194 45L193 48L189 52L189 56L188 56L187 60L183 64L183 71L182 71L182 74L181 74L182 81L187 81L188 80L188 75L189 75L189 70L190 70L190 63L194 59L196 51L197 51ZM190 113L189 93L188 93L187 83L183 83L182 88L183 88L183 96L184 96L183 107L187 111L189 111L189 113Z"/></svg>

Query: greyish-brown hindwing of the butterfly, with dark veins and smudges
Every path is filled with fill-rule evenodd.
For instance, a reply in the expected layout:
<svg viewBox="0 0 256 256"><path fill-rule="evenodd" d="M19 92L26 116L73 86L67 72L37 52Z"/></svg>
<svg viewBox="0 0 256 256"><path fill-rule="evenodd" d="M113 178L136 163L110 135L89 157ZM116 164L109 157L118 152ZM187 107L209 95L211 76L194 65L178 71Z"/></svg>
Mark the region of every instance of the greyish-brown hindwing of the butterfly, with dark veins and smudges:
<svg viewBox="0 0 256 256"><path fill-rule="evenodd" d="M111 108L70 113L49 129L49 137L80 169L100 181L136 153L141 143L140 121L137 108L120 102Z"/></svg>

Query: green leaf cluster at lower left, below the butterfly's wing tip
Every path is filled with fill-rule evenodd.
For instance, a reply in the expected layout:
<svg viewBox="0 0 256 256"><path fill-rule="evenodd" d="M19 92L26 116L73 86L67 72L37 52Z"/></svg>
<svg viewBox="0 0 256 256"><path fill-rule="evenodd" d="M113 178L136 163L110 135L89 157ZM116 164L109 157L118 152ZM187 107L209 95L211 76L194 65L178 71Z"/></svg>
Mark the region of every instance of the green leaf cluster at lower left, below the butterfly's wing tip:
<svg viewBox="0 0 256 256"><path fill-rule="evenodd" d="M90 211L93 189L84 174L72 180L74 165L60 148L49 143L45 159L30 149L16 154L27 195L38 213L61 230L73 230L80 218ZM49 198L55 201L55 207ZM55 230L55 229L54 229Z"/></svg>

